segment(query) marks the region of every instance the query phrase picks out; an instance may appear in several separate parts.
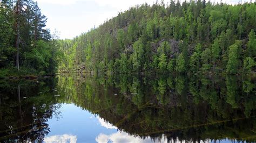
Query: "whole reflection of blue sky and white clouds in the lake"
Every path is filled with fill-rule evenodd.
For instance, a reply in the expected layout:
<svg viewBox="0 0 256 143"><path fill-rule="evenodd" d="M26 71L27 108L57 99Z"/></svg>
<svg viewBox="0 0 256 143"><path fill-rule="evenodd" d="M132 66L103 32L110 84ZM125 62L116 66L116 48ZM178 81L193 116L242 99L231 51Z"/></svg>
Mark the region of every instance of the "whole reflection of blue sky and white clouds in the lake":
<svg viewBox="0 0 256 143"><path fill-rule="evenodd" d="M116 126L73 104L63 104L59 110L60 118L57 119L53 116L47 123L50 133L45 137L45 142L154 142L150 138L143 140L126 132L117 131ZM156 140L156 142L166 141L164 137ZM222 140L220 142L230 141Z"/></svg>

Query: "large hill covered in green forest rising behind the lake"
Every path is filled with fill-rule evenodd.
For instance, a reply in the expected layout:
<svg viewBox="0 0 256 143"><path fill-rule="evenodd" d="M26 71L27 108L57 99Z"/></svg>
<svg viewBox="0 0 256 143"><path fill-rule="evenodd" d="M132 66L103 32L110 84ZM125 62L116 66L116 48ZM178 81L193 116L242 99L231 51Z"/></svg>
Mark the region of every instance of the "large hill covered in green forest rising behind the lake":
<svg viewBox="0 0 256 143"><path fill-rule="evenodd" d="M60 40L60 71L254 73L256 3L171 1L120 12Z"/></svg>

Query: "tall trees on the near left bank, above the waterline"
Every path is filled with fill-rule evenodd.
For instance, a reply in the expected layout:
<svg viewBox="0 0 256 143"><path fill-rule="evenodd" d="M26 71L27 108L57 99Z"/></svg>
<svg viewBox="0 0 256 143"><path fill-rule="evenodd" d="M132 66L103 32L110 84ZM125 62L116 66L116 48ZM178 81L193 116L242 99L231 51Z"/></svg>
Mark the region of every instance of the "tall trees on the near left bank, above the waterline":
<svg viewBox="0 0 256 143"><path fill-rule="evenodd" d="M52 74L57 69L57 41L45 28L37 2L0 3L0 75Z"/></svg>

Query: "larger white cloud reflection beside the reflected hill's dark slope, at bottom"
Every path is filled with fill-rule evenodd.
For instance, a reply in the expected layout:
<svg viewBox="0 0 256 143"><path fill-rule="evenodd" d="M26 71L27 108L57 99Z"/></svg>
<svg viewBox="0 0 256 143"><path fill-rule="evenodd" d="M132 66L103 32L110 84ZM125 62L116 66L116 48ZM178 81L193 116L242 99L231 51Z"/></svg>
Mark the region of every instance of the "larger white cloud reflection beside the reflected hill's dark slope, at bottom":
<svg viewBox="0 0 256 143"><path fill-rule="evenodd" d="M150 138L146 138L145 140L139 137L133 137L126 132L117 132L110 135L99 134L95 139L97 142L154 142ZM164 138L161 140L156 140L156 142L166 142Z"/></svg>

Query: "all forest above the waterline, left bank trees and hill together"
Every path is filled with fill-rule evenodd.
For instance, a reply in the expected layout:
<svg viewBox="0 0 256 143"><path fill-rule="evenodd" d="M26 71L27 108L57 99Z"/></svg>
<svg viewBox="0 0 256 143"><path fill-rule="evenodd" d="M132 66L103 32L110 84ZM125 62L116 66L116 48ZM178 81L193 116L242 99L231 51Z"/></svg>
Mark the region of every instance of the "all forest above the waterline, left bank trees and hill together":
<svg viewBox="0 0 256 143"><path fill-rule="evenodd" d="M58 39L32 0L0 6L0 76L57 72L253 74L256 3L157 1Z"/></svg>

